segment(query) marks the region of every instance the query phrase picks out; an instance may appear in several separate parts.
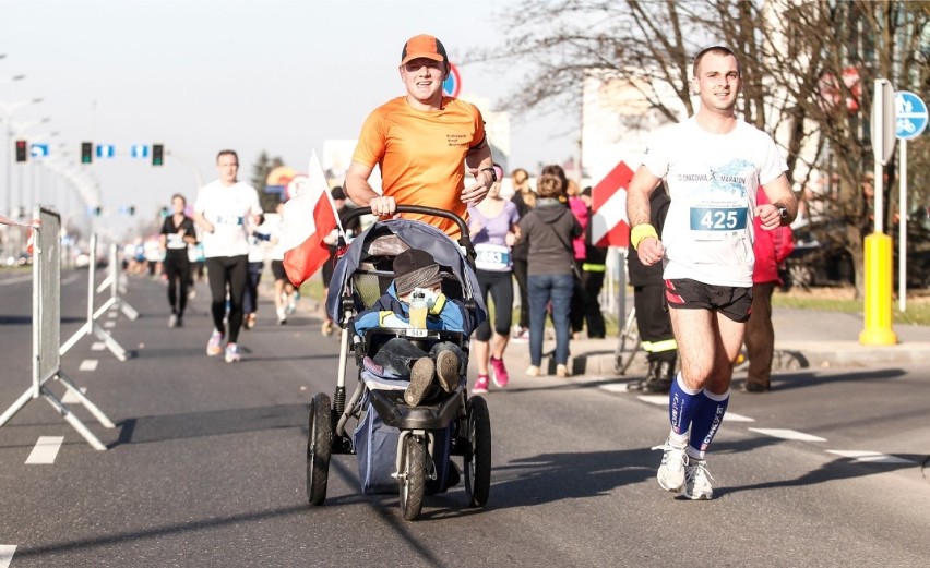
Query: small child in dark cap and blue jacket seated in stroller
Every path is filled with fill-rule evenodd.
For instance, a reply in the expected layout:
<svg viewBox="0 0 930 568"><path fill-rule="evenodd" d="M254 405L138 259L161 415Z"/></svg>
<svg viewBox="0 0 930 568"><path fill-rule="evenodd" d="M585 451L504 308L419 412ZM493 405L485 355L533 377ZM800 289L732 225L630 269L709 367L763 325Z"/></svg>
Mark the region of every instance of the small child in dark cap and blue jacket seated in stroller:
<svg viewBox="0 0 930 568"><path fill-rule="evenodd" d="M394 281L388 291L369 310L355 317L356 335L365 337L366 331L373 327L424 327L470 336L477 324L475 316L462 301L442 293L440 266L429 253L418 249L406 250L394 258L393 270ZM425 321L417 322L416 313L412 317L412 302L425 304ZM450 341L437 342L427 352L406 338L395 337L388 340L373 358L365 358L363 365L381 377L409 377L404 401L415 407L442 392L454 392L465 377L468 358Z"/></svg>

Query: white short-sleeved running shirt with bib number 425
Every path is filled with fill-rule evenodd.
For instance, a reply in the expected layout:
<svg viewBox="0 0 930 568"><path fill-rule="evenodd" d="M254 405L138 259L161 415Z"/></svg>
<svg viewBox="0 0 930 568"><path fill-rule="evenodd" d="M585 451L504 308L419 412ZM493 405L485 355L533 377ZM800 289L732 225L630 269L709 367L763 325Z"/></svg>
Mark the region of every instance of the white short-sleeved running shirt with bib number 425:
<svg viewBox="0 0 930 568"><path fill-rule="evenodd" d="M656 131L643 165L671 197L663 278L751 288L755 193L788 169L772 137L741 120L711 134L691 117Z"/></svg>

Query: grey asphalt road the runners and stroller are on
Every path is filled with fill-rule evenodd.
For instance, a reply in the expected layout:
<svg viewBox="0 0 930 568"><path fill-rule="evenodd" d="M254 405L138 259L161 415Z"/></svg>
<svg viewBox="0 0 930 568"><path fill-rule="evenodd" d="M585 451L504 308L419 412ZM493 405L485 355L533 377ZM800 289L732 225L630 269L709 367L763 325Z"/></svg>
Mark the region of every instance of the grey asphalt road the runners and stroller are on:
<svg viewBox="0 0 930 568"><path fill-rule="evenodd" d="M86 318L87 282L83 271L62 278L63 342ZM29 287L0 273L0 410L31 380ZM336 340L306 312L276 326L263 302L259 326L242 331L243 361L208 359L208 292L196 292L186 327L168 329L164 285L131 277L124 298L142 316L99 322L138 356L121 362L87 336L62 358L117 425L73 406L108 450L40 399L0 427L0 568L923 566L930 557L926 368L785 372L777 391L734 394L708 457L715 498L696 503L655 481L660 454L649 448L668 427L660 399L610 379L514 377L486 397L487 507L466 508L458 486L427 497L420 520L406 522L396 495L360 494L350 456L334 457L325 505L307 504L307 404L332 394ZM57 452L49 437L63 437ZM40 438L50 462L27 463Z"/></svg>

